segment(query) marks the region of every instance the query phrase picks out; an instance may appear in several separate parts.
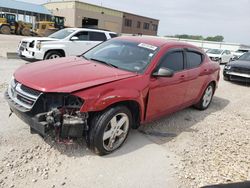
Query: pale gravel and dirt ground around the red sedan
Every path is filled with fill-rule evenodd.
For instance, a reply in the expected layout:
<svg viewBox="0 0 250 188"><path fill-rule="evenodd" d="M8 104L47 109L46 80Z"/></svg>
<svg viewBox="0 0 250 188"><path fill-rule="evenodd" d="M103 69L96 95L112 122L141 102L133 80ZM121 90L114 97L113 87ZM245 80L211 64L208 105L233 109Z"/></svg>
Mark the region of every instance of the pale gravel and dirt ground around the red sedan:
<svg viewBox="0 0 250 188"><path fill-rule="evenodd" d="M0 58L0 187L200 187L250 180L250 87L221 80L210 108L193 108L132 131L98 157L32 135L3 99L21 60Z"/></svg>

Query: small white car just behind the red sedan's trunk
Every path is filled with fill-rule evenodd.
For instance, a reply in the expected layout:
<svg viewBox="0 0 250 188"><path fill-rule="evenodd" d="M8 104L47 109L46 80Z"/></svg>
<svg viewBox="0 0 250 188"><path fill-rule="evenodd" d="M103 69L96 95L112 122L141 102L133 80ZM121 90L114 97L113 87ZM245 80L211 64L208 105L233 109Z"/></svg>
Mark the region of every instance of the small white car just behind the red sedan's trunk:
<svg viewBox="0 0 250 188"><path fill-rule="evenodd" d="M206 53L211 60L217 61L219 64L228 63L233 59L233 54L229 50L209 49Z"/></svg>

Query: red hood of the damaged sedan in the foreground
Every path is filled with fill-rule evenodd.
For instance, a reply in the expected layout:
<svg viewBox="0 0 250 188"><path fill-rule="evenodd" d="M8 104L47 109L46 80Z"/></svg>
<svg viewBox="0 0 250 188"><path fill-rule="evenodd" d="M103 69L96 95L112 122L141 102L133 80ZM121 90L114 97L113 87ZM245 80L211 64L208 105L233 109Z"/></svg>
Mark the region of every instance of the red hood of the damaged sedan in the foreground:
<svg viewBox="0 0 250 188"><path fill-rule="evenodd" d="M15 79L43 92L70 93L77 90L136 76L81 57L67 57L27 64L15 73Z"/></svg>

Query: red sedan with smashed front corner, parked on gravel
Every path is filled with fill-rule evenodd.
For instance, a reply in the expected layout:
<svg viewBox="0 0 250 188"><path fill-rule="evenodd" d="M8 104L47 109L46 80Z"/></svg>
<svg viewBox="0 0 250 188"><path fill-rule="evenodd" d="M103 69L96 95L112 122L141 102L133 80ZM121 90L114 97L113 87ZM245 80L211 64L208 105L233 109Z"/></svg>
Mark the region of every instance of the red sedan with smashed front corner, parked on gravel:
<svg viewBox="0 0 250 188"><path fill-rule="evenodd" d="M31 132L85 137L99 155L129 130L189 106L209 107L219 65L199 48L156 37L118 37L79 57L27 64L5 93Z"/></svg>

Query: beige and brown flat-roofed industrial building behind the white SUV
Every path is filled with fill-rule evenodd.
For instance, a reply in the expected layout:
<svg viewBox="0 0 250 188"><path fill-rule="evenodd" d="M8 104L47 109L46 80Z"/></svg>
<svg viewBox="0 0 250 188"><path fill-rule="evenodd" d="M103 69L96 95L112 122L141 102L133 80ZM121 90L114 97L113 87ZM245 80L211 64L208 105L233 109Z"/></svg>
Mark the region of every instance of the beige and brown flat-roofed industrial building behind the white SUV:
<svg viewBox="0 0 250 188"><path fill-rule="evenodd" d="M157 35L159 20L79 1L44 4L55 16L65 17L65 26L101 28L117 33Z"/></svg>

